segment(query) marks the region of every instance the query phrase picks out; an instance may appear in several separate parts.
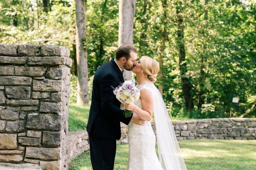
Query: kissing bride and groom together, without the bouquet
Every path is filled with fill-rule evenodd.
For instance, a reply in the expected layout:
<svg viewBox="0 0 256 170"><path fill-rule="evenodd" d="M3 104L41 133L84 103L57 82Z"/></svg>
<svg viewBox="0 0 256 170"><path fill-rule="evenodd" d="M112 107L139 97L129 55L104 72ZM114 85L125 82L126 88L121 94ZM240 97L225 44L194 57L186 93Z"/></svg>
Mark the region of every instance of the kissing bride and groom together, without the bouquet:
<svg viewBox="0 0 256 170"><path fill-rule="evenodd" d="M132 111L131 117L124 116L121 102L111 88L124 83L124 69L136 74L140 90L138 100L124 104L126 110ZM114 59L96 70L86 128L93 170L114 169L116 140L121 138L120 122L128 125L127 170L187 170L164 100L154 85L158 71L155 59L142 56L137 61L137 50L127 44L117 49ZM156 137L150 123L153 114Z"/></svg>

